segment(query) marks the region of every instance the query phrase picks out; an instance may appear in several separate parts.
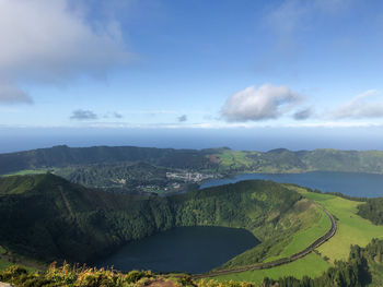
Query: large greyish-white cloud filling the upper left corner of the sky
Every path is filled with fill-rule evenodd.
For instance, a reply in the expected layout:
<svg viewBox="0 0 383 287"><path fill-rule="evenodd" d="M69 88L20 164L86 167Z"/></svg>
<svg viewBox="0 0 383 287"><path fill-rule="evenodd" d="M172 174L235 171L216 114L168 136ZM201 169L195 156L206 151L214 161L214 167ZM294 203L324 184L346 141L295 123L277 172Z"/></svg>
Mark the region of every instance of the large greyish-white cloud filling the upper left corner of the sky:
<svg viewBox="0 0 383 287"><path fill-rule="evenodd" d="M91 25L84 11L70 9L67 0L0 0L0 82L13 89L21 81L102 76L132 59L116 22ZM1 93L0 103L8 97Z"/></svg>

